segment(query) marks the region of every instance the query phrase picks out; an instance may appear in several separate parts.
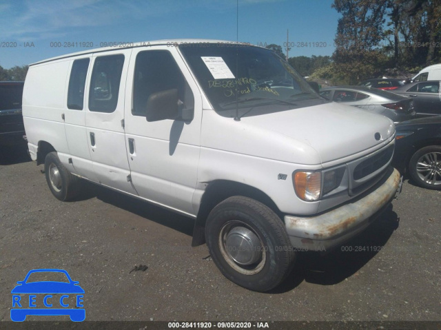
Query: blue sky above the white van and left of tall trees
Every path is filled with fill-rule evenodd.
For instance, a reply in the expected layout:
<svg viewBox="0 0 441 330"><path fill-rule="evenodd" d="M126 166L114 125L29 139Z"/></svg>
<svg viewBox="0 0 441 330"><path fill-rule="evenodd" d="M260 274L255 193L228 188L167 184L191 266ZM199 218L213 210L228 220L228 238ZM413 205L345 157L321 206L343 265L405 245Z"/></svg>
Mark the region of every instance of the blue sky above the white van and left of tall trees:
<svg viewBox="0 0 441 330"><path fill-rule="evenodd" d="M237 3L238 1L238 3ZM333 0L0 0L0 65L28 65L105 43L223 39L275 43L289 57L331 55Z"/></svg>

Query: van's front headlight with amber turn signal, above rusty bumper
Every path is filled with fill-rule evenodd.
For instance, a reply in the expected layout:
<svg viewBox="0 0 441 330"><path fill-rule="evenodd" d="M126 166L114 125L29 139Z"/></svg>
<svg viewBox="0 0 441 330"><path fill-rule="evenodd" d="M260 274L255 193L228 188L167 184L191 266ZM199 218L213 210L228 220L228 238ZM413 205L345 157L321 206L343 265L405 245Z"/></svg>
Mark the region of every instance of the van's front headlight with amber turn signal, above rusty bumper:
<svg viewBox="0 0 441 330"><path fill-rule="evenodd" d="M296 194L302 200L315 201L340 187L345 167L327 169L321 172L297 171L293 173Z"/></svg>

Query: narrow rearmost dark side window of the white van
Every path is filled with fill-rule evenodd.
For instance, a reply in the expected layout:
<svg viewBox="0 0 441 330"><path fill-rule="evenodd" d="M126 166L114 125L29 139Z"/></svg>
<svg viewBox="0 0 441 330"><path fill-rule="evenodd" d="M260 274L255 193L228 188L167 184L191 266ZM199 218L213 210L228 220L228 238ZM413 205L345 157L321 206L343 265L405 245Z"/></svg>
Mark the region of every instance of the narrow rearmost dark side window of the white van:
<svg viewBox="0 0 441 330"><path fill-rule="evenodd" d="M83 110L85 76L90 59L77 59L72 64L68 90L68 109Z"/></svg>

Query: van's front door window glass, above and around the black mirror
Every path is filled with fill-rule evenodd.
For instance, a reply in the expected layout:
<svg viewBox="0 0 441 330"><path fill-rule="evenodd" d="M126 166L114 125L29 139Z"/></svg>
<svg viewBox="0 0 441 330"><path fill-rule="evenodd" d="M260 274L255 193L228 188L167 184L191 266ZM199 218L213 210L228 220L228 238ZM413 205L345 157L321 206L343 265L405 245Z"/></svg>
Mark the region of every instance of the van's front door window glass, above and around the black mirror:
<svg viewBox="0 0 441 330"><path fill-rule="evenodd" d="M150 94L178 90L178 99L189 109L194 107L194 96L185 77L167 50L147 50L136 56L133 88L134 116L145 116Z"/></svg>

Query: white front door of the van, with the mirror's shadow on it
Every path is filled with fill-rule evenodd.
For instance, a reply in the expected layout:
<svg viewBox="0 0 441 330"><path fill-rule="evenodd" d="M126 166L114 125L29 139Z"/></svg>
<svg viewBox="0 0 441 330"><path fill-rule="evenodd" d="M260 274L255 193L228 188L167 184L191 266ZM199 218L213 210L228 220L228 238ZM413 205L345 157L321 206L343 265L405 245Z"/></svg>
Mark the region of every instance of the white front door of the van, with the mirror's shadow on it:
<svg viewBox="0 0 441 330"><path fill-rule="evenodd" d="M148 122L145 115L132 112L136 104L132 99L133 90L136 88L134 74L139 54L146 56L144 60L148 59L150 54L165 54L165 59L176 65L174 68L180 71L183 75L181 79L188 84L187 97L192 94L194 98L192 121L186 123L172 120ZM152 63L156 63L154 64L156 67L164 65L156 61ZM192 197L196 187L200 154L201 93L175 48L158 46L134 49L129 72L130 79L127 79L125 94L125 136L134 187L142 198L194 217L196 213L192 206ZM156 72L152 76L157 75ZM159 76L162 77L165 74ZM134 145L133 152L130 152L129 139Z"/></svg>

